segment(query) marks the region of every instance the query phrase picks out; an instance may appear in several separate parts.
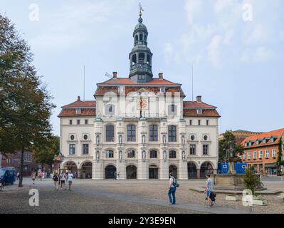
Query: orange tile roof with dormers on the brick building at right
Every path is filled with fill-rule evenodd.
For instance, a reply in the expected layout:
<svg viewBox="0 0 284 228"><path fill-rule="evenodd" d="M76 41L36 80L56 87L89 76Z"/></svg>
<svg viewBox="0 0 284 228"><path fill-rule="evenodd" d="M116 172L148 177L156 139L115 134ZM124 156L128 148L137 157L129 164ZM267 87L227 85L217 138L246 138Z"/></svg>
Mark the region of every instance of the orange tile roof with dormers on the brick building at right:
<svg viewBox="0 0 284 228"><path fill-rule="evenodd" d="M274 142L268 141L265 144L263 144L263 142L261 142L258 145L256 145L256 142L255 142L255 143L253 143L253 145L248 146L246 148L249 148L249 147L260 147L260 146L266 146L266 145L275 145L275 144L277 144L279 142L280 137L283 136L283 135L284 135L284 128L281 128L281 129L278 129L278 130L270 131L268 133L262 133L262 134L248 136L241 143L242 143L242 145L245 145L245 142L249 142L251 140L258 140L258 139L264 139L264 138L271 138L272 136L277 136L278 138Z"/></svg>

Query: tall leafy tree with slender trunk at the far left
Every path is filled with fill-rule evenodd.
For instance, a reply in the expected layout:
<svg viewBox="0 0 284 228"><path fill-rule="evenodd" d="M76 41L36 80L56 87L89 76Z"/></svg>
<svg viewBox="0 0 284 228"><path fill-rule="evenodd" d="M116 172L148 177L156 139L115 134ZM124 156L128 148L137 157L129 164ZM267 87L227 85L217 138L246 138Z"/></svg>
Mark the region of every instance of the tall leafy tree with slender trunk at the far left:
<svg viewBox="0 0 284 228"><path fill-rule="evenodd" d="M23 151L45 145L51 136L51 95L32 64L33 54L6 16L0 14L0 151Z"/></svg>

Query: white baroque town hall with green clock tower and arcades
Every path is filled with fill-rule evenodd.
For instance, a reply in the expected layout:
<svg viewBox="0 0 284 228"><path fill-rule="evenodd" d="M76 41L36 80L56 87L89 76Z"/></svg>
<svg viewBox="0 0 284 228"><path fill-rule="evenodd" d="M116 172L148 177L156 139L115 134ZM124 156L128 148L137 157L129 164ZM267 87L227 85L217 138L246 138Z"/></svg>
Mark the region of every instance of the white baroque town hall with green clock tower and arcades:
<svg viewBox="0 0 284 228"><path fill-rule="evenodd" d="M94 100L65 105L60 118L61 170L102 180L205 177L217 170L220 115L201 96L184 100L182 85L152 74L147 27L133 31L130 73L97 84Z"/></svg>

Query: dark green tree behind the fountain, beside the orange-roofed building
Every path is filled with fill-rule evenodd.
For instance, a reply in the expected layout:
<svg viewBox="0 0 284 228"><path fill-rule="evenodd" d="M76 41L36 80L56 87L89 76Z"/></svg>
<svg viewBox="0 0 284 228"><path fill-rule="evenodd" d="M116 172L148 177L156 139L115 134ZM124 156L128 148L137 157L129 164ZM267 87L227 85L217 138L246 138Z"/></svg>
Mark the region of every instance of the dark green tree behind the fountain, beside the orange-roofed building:
<svg viewBox="0 0 284 228"><path fill-rule="evenodd" d="M226 158L226 150L228 149L229 142L233 142L236 153L243 154L243 145L236 143L236 137L231 130L226 130L226 133L223 134L223 139L219 140L219 160Z"/></svg>

